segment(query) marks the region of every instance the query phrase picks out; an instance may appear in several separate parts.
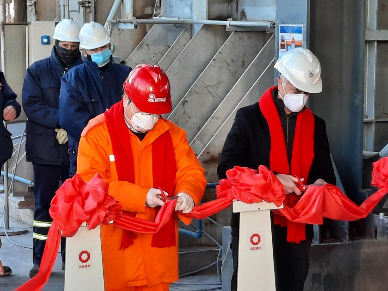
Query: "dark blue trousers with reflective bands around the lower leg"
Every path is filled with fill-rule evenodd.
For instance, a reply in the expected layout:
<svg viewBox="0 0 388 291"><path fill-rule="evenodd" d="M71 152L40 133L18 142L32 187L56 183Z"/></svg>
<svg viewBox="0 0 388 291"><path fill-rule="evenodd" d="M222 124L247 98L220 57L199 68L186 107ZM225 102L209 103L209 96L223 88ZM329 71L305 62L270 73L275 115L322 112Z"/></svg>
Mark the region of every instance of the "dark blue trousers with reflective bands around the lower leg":
<svg viewBox="0 0 388 291"><path fill-rule="evenodd" d="M33 163L34 170L34 228L33 263L40 264L45 248L47 233L52 223L49 214L50 203L55 191L69 177L69 166L40 165ZM65 261L65 238L61 240L62 262Z"/></svg>

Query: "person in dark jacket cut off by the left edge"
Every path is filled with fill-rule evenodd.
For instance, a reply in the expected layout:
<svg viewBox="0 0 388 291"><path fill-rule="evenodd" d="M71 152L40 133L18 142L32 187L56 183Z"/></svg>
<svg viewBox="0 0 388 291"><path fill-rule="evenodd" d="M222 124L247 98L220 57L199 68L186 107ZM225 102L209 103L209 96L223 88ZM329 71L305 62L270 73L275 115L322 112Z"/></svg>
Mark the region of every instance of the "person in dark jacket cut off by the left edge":
<svg viewBox="0 0 388 291"><path fill-rule="evenodd" d="M3 72L0 72L0 104L2 104L4 121L12 121L19 117L21 110L20 104L16 101L16 94L8 86L7 81L5 81ZM0 124L0 167L12 156L12 148L11 133L5 128L2 122ZM11 272L10 267L3 267L0 261L0 276L10 275Z"/></svg>

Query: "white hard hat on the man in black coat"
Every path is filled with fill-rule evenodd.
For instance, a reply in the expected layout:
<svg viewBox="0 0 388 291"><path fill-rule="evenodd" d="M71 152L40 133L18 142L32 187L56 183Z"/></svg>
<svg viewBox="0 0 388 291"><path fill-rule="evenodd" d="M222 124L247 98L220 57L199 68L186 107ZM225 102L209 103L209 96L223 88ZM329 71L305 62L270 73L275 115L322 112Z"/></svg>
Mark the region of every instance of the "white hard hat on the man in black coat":
<svg viewBox="0 0 388 291"><path fill-rule="evenodd" d="M308 49L297 47L289 50L277 60L275 69L303 92L322 92L320 62Z"/></svg>

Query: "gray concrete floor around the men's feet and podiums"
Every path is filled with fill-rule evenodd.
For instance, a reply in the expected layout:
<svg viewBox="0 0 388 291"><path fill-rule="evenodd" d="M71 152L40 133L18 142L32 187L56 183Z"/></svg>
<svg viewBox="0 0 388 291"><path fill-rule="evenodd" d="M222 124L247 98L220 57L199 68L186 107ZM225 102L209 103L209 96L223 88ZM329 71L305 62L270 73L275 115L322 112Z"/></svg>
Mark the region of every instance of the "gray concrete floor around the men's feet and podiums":
<svg viewBox="0 0 388 291"><path fill-rule="evenodd" d="M0 223L2 223L2 221ZM28 232L26 234L11 236L10 238L14 242L17 242L19 244L32 246L32 227L12 218L10 219L10 227L23 227L28 229ZM15 246L11 244L4 236L1 237L1 241L2 248L0 249L0 258L3 265L12 268L12 275L8 277L0 277L0 290L11 291L29 279L28 273L30 268L32 267L32 250ZM219 281L217 275L198 275L182 278L180 282L190 284L201 284L201 286L171 284L170 291L215 290L217 286L213 284L217 284ZM61 256L58 255L49 282L46 284L43 290L62 291L63 284L64 272L61 270Z"/></svg>

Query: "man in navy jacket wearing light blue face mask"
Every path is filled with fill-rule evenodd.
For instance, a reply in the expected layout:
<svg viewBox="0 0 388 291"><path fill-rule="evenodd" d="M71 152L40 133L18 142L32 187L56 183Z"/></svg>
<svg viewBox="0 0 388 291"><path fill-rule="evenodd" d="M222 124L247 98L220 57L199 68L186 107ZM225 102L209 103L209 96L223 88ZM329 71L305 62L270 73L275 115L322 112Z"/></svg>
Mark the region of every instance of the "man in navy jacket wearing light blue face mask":
<svg viewBox="0 0 388 291"><path fill-rule="evenodd" d="M59 123L69 133L70 177L76 173L78 142L95 116L120 101L131 68L113 62L111 38L99 23L85 23L80 31L85 62L62 77Z"/></svg>

